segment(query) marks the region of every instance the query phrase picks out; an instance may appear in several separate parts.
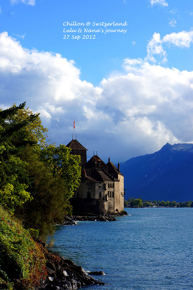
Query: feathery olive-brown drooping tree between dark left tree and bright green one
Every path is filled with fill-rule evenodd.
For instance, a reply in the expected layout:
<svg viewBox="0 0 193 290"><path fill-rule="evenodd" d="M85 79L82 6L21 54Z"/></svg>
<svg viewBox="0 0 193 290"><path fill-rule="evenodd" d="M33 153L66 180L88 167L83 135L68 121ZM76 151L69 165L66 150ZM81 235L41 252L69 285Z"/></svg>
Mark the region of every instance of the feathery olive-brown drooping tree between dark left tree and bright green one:
<svg viewBox="0 0 193 290"><path fill-rule="evenodd" d="M26 166L30 180L27 190L32 198L22 207L17 207L15 215L24 220L26 228L39 230L39 234L46 238L53 234L53 226L64 215L66 183L61 179L54 180L30 148L26 147L22 158L29 160Z"/></svg>

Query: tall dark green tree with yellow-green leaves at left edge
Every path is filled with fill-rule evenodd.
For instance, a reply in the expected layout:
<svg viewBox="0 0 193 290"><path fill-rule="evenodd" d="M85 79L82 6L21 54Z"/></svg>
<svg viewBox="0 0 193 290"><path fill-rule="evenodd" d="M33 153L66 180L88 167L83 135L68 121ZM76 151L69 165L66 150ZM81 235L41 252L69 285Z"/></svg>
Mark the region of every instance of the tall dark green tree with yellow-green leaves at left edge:
<svg viewBox="0 0 193 290"><path fill-rule="evenodd" d="M26 191L29 181L26 162L21 159L21 153L27 143L35 144L25 132L37 115L29 114L28 118L17 120L18 112L24 107L25 103L0 110L0 201L11 213L30 199Z"/></svg>

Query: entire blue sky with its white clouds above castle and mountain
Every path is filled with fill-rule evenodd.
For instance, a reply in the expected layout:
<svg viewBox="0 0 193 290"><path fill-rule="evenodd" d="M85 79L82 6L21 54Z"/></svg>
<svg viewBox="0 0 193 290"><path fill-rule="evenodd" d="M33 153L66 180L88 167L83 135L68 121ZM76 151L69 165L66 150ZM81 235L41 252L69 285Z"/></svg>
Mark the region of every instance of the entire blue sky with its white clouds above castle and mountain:
<svg viewBox="0 0 193 290"><path fill-rule="evenodd" d="M107 163L193 143L192 0L0 0L0 108Z"/></svg>

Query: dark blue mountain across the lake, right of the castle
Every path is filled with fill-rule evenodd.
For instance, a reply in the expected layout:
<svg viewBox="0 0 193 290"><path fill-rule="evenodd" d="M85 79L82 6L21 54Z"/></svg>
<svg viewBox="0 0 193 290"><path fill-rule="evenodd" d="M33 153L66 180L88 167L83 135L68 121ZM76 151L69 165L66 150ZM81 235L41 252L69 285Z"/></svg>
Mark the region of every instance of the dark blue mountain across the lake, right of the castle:
<svg viewBox="0 0 193 290"><path fill-rule="evenodd" d="M193 144L165 144L153 154L120 163L125 199L193 200Z"/></svg>

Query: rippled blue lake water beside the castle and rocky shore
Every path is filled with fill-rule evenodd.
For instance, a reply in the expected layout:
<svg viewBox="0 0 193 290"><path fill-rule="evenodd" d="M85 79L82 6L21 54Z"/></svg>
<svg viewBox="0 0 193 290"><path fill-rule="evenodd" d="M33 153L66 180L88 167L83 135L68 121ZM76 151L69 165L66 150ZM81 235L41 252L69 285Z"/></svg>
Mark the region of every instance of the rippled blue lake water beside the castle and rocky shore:
<svg viewBox="0 0 193 290"><path fill-rule="evenodd" d="M86 290L193 289L193 208L125 209L117 222L58 226L53 251L109 285Z"/></svg>

